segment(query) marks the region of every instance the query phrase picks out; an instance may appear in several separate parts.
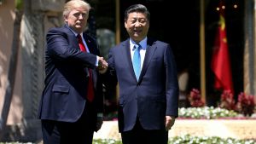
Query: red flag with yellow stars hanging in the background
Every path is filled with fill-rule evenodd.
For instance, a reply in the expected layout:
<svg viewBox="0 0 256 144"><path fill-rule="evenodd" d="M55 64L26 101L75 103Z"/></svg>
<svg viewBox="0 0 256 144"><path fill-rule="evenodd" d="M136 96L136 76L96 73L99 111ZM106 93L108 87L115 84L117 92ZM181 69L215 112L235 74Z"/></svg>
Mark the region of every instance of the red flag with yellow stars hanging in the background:
<svg viewBox="0 0 256 144"><path fill-rule="evenodd" d="M220 19L218 22L218 32L216 35L212 55L212 71L215 75L214 88L230 90L232 94L234 94L230 68L230 55L226 37L224 9L220 7L219 12Z"/></svg>

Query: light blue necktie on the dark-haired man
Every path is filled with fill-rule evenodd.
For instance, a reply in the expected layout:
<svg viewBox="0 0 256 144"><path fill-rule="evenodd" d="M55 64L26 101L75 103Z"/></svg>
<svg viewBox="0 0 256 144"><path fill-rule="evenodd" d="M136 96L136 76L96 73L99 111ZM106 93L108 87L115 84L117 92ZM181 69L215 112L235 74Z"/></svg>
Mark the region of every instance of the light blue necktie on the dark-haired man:
<svg viewBox="0 0 256 144"><path fill-rule="evenodd" d="M136 78L140 77L141 74L141 55L140 55L140 49L141 49L140 44L135 44L134 45L134 54L133 54L133 59L132 59L132 66L133 70L135 72Z"/></svg>

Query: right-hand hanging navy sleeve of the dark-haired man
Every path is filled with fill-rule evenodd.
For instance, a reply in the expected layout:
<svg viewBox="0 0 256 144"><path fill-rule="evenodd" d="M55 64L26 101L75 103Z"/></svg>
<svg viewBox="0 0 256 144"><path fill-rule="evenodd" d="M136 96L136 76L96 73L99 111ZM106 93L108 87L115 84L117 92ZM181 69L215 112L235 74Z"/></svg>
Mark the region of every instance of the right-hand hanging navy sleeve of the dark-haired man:
<svg viewBox="0 0 256 144"><path fill-rule="evenodd" d="M177 118L178 115L178 83L177 67L170 45L167 45L164 63L166 66L166 115Z"/></svg>

